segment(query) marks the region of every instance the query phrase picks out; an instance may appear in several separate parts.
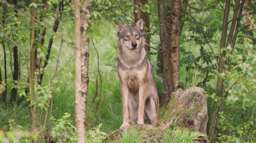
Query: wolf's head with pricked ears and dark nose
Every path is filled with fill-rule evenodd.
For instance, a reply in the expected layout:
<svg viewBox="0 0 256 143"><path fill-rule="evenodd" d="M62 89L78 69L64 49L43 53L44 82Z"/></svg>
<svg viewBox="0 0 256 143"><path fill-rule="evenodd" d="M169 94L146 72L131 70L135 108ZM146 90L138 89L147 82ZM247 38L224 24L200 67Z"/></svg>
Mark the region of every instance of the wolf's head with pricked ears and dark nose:
<svg viewBox="0 0 256 143"><path fill-rule="evenodd" d="M118 46L123 50L136 50L144 46L143 20L138 19L134 25L122 25L114 20L118 32Z"/></svg>

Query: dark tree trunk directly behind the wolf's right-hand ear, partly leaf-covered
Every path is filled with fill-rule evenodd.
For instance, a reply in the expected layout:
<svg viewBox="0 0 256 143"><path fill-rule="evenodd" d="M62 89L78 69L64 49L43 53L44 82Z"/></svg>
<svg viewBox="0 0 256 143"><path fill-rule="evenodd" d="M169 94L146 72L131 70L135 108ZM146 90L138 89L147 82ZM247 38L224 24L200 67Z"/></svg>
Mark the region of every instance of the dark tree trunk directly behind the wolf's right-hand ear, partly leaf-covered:
<svg viewBox="0 0 256 143"><path fill-rule="evenodd" d="M141 4L142 5L149 5L149 0L141 0ZM142 15L142 18L143 18L143 21L145 22L145 26L147 28L147 30L145 30L144 32L145 33L149 33L150 32L150 19L149 19L149 13L146 13L146 12L141 12L141 15ZM146 51L150 51L150 36L147 35L146 37L146 43L147 45L145 45L145 50Z"/></svg>

